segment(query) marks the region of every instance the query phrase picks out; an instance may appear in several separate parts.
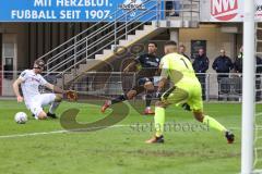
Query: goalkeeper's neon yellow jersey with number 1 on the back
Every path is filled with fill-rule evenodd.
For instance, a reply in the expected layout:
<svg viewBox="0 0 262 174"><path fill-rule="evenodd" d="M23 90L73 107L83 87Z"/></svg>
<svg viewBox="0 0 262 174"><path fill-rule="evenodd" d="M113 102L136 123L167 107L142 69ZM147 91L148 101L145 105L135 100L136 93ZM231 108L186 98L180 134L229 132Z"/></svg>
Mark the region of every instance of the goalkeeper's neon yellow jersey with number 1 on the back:
<svg viewBox="0 0 262 174"><path fill-rule="evenodd" d="M160 61L162 77L170 77L176 86L183 86L198 82L191 62L178 53L169 53Z"/></svg>

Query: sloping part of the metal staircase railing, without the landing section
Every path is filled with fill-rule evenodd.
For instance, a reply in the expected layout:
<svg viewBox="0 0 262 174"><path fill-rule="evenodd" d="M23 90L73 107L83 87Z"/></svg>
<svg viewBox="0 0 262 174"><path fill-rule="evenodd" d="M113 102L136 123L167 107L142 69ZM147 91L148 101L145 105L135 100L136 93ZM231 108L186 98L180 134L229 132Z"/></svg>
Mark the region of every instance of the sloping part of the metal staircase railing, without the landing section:
<svg viewBox="0 0 262 174"><path fill-rule="evenodd" d="M144 5L150 4L152 0L146 0L143 2ZM84 63L85 59L94 59L95 54L100 53L104 49L108 48L111 45L117 45L120 39L127 39L127 36L145 24L146 22L159 18L157 15L156 8L159 10L159 1L154 1L145 11L140 13L132 20L129 20L129 15L133 13L133 10L127 10L121 13L122 10L118 9L108 17L115 18L114 22L105 23L105 21L100 21L95 25L91 26L86 30L80 33L75 37L69 39L64 44L55 48L50 52L40 57L39 59L44 59L47 61L47 71L70 71L71 69L75 69L79 64ZM138 11L138 10L135 10ZM119 15L120 14L120 15ZM147 21L141 22L139 25L134 26L132 29L127 29L136 21L140 21L145 15L151 14ZM100 28L96 28L99 27ZM93 29L96 29L93 32ZM124 32L126 29L126 32ZM64 48L66 47L66 48ZM48 59L48 55L51 55L53 52L57 52L55 55ZM62 60L62 61L61 61Z"/></svg>

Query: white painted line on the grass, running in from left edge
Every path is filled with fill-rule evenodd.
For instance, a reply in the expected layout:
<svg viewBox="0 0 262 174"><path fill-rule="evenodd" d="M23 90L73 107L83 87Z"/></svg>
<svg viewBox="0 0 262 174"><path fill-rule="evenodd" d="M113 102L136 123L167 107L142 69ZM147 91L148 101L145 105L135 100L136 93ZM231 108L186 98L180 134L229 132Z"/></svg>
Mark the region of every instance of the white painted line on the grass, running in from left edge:
<svg viewBox="0 0 262 174"><path fill-rule="evenodd" d="M92 129L99 129L99 128L115 128L115 127L128 127L130 125L112 125L112 126L99 126L99 127L90 127L90 128L82 128L82 129L72 129L72 130L53 130L53 132L40 132L40 133L28 133L28 134L13 134L13 135L3 135L0 136L0 139L3 138L16 138L16 137L28 137L28 136L37 136L37 135L50 135L50 134L63 134L63 133L76 133L83 130L92 130Z"/></svg>

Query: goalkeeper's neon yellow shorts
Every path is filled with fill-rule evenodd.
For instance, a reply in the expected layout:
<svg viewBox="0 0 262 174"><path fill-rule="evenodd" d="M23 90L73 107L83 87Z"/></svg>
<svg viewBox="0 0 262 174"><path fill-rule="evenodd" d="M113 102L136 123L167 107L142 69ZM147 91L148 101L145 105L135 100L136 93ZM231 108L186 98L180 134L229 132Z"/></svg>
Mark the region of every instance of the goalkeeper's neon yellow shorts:
<svg viewBox="0 0 262 174"><path fill-rule="evenodd" d="M174 86L163 94L162 101L166 104L176 105L188 103L192 111L203 111L200 83Z"/></svg>

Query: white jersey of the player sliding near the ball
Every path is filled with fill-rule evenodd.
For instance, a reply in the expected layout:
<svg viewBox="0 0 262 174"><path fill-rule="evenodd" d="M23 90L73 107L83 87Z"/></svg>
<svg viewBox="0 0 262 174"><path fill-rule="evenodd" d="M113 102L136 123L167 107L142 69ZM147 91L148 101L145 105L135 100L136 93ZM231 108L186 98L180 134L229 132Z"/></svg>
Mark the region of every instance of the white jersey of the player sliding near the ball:
<svg viewBox="0 0 262 174"><path fill-rule="evenodd" d="M21 73L21 88L26 104L31 102L33 97L40 95L39 86L47 84L46 79L40 74L35 74L33 70L25 70Z"/></svg>

